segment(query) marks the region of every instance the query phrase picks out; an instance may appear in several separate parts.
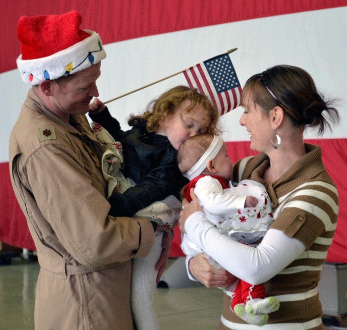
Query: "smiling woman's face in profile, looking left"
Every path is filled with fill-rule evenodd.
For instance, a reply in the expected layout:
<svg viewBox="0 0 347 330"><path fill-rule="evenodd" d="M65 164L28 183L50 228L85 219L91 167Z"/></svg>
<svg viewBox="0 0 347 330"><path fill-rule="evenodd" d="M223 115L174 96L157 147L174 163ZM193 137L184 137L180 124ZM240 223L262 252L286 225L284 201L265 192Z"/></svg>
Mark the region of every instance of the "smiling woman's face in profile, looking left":
<svg viewBox="0 0 347 330"><path fill-rule="evenodd" d="M250 135L250 148L266 153L272 148L270 120L265 111L253 102L252 95L244 95L243 100L244 112L240 118L240 125L246 127Z"/></svg>

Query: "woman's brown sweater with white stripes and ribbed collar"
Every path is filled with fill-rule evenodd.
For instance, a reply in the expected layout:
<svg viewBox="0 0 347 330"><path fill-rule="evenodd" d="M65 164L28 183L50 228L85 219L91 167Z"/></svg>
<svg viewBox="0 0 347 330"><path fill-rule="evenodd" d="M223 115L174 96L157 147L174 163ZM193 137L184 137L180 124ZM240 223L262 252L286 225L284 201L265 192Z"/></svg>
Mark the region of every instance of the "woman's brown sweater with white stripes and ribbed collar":
<svg viewBox="0 0 347 330"><path fill-rule="evenodd" d="M280 309L269 314L262 330L323 329L317 285L336 228L338 192L323 165L321 148L309 144L305 148L307 154L270 184L262 179L269 165L265 154L234 166L234 181L251 179L265 185L274 214L270 228L283 231L306 247L299 258L265 282L267 296L276 296ZM258 329L231 312L230 300L226 294L220 329Z"/></svg>

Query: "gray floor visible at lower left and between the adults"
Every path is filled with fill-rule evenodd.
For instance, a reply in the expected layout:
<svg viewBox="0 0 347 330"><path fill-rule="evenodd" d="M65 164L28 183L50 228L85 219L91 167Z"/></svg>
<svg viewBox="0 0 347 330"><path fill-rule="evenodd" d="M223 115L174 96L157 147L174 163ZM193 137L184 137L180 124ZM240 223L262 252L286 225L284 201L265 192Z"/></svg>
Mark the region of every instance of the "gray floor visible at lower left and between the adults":
<svg viewBox="0 0 347 330"><path fill-rule="evenodd" d="M13 259L0 266L0 330L34 329L34 296L39 265ZM223 294L203 286L158 288L155 307L162 330L211 330L219 324ZM326 327L326 329L332 329Z"/></svg>

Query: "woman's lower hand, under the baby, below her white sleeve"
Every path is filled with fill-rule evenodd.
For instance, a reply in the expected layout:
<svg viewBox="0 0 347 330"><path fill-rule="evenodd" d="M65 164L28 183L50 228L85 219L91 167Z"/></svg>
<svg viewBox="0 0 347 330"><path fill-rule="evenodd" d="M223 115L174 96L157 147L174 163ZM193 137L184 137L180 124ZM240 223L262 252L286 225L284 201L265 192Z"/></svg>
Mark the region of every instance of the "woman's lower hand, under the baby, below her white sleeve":
<svg viewBox="0 0 347 330"><path fill-rule="evenodd" d="M237 277L226 270L213 268L203 254L189 260L190 273L207 287L228 286L237 280Z"/></svg>

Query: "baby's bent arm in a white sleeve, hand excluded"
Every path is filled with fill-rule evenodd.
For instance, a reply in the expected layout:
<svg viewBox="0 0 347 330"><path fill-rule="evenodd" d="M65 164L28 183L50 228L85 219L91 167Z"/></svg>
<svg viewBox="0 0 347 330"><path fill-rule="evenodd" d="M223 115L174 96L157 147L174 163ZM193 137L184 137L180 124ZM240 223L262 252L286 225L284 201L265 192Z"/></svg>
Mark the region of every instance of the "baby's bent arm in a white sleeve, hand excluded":
<svg viewBox="0 0 347 330"><path fill-rule="evenodd" d="M244 208L246 200L245 196L232 193L232 189L223 189L220 182L211 176L199 179L194 193L201 205L215 215L235 213Z"/></svg>

